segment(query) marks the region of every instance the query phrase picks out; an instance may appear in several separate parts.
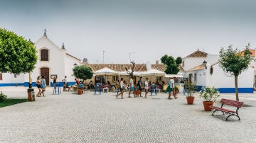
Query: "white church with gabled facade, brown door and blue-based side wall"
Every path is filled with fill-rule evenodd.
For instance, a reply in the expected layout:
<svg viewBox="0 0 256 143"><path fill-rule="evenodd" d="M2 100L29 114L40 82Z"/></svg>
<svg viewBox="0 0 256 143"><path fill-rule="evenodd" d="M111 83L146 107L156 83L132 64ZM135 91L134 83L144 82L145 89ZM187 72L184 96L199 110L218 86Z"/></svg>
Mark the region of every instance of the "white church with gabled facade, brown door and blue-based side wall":
<svg viewBox="0 0 256 143"><path fill-rule="evenodd" d="M37 76L46 76L46 84L52 86L53 76L57 76L57 82L62 83L63 77L67 76L70 84L75 84L73 68L80 65L80 59L68 54L64 45L58 47L44 33L36 43L38 51L38 62L36 68L31 72L32 85L35 86ZM28 86L29 74L0 74L0 86Z"/></svg>

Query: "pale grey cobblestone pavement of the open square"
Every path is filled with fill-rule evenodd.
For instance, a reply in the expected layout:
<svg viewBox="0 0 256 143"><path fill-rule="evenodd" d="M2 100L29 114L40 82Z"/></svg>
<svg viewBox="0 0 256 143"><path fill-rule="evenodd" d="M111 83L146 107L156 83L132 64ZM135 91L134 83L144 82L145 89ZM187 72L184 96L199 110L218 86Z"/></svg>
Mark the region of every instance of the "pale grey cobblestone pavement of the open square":
<svg viewBox="0 0 256 143"><path fill-rule="evenodd" d="M9 98L27 98L24 87L0 91ZM226 115L204 111L198 93L193 105L181 93L175 100L167 100L166 93L148 98L124 93L124 100L115 93L51 93L47 88L47 96L35 102L0 108L0 142L256 142L254 93L240 94L246 105L239 110L241 120L228 122Z"/></svg>

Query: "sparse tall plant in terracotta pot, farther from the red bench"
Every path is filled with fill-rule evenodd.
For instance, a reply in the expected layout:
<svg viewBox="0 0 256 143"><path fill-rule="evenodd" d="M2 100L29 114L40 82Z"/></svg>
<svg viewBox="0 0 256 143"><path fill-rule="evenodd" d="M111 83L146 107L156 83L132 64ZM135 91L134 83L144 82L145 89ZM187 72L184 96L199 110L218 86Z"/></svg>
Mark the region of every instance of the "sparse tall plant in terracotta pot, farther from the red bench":
<svg viewBox="0 0 256 143"><path fill-rule="evenodd" d="M193 93L196 91L197 87L195 86L196 83L186 82L184 84L184 88L186 90L186 93L188 93L188 96L186 97L188 104L193 104L194 96Z"/></svg>

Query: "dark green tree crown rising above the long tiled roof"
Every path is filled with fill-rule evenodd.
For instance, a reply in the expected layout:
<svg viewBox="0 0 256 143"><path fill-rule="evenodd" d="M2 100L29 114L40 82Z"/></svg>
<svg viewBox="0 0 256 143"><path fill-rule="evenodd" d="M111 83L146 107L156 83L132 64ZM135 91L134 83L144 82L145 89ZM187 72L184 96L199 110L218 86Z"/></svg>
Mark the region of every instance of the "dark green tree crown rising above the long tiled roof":
<svg viewBox="0 0 256 143"><path fill-rule="evenodd" d="M181 62L181 57L177 57L176 60L168 55L161 57L161 63L166 64L166 70L164 71L166 74L177 74L179 71L178 64L181 64Z"/></svg>

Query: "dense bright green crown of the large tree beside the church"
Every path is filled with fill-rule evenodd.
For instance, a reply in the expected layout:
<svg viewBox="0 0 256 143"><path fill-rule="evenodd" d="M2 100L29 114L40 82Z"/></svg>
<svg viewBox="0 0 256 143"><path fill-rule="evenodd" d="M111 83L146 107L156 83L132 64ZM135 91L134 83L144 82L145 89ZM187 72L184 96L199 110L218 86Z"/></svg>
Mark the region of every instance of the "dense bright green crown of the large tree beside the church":
<svg viewBox="0 0 256 143"><path fill-rule="evenodd" d="M0 72L28 73L35 68L37 59L32 42L0 28Z"/></svg>

